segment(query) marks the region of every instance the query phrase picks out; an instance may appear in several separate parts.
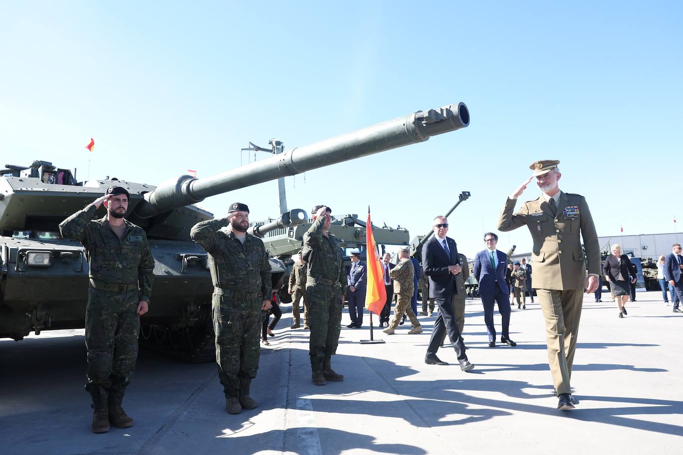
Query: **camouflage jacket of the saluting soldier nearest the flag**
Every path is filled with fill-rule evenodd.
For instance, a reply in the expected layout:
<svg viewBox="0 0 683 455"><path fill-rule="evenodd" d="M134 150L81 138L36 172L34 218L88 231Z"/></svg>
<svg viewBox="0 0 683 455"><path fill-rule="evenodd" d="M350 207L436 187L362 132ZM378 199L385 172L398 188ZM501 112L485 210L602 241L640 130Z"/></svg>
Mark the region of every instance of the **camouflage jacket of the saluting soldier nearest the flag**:
<svg viewBox="0 0 683 455"><path fill-rule="evenodd" d="M342 246L332 233L328 233L328 237L323 235L324 226L324 217L319 216L303 235L303 256L308 265L307 281L325 281L335 286L338 283L341 287L346 282Z"/></svg>

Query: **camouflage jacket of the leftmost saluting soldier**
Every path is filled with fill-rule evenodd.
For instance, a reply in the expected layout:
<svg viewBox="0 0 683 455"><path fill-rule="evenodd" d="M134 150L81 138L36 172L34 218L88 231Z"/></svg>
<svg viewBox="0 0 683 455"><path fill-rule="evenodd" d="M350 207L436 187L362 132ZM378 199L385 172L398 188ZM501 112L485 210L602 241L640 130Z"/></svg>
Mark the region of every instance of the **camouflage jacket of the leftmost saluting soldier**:
<svg viewBox="0 0 683 455"><path fill-rule="evenodd" d="M137 283L139 299L150 302L154 259L145 231L124 220L126 231L119 238L109 226L107 216L92 219L96 210L94 204L88 204L59 223L61 236L83 244L90 278L109 284Z"/></svg>

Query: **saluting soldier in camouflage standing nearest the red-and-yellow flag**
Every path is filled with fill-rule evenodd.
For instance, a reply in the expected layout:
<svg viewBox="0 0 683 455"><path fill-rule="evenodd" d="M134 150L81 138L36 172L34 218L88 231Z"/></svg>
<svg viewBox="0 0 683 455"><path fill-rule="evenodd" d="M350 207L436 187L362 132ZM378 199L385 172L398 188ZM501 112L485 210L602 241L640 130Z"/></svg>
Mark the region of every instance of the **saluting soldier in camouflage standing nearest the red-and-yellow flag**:
<svg viewBox="0 0 683 455"><path fill-rule="evenodd" d="M344 381L344 376L338 375L331 366L331 357L337 352L339 332L342 331L342 282L346 282L342 247L339 239L329 233L331 213L324 205L313 207L313 224L303 236L303 257L308 264L306 294L311 327L311 380L316 385Z"/></svg>

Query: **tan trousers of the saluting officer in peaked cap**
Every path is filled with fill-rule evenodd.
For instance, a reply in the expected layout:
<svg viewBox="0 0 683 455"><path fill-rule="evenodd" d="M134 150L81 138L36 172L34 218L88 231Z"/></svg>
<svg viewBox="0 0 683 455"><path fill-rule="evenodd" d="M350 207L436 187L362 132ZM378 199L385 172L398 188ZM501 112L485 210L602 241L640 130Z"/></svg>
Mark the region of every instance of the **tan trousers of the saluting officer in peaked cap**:
<svg viewBox="0 0 683 455"><path fill-rule="evenodd" d="M572 364L583 306L583 289L536 289L546 323L548 364L557 394L570 394Z"/></svg>

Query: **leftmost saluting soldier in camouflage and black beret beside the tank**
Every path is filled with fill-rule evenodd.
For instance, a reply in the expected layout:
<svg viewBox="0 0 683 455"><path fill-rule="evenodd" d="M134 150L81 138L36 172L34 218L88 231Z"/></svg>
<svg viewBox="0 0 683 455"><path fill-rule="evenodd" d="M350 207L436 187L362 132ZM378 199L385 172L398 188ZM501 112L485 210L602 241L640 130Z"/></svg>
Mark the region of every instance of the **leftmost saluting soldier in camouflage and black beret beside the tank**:
<svg viewBox="0 0 683 455"><path fill-rule="evenodd" d="M122 408L137 359L140 315L148 311L154 259L145 231L124 218L130 194L120 186L59 224L61 236L80 241L90 266L85 308L87 383L92 431L133 425ZM107 216L93 220L104 203Z"/></svg>

